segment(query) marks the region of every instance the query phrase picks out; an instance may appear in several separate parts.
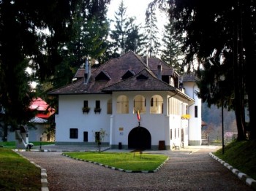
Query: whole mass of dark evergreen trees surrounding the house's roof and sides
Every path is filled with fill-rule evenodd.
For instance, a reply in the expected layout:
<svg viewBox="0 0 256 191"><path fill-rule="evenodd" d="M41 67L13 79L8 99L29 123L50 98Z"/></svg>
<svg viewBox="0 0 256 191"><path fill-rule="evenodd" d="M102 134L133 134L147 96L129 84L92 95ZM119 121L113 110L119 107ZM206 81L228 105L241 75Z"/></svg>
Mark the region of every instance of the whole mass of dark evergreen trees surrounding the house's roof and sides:
<svg viewBox="0 0 256 191"><path fill-rule="evenodd" d="M161 58L179 74L196 74L202 101L235 112L238 140L256 139L255 93L250 88L255 86L255 1L148 2L145 23L140 25L135 17L126 15L124 1L113 20L106 16L110 0L0 1L4 134L8 126L19 128L31 119L34 114L27 108L35 96L58 109L47 92L75 80L75 71L87 59L97 67L133 50L141 56ZM157 10L165 12L163 29L157 26ZM37 82L36 89L29 82ZM219 126L214 113L203 110L208 127L212 122ZM233 122L227 116L224 114L225 130L232 130Z"/></svg>

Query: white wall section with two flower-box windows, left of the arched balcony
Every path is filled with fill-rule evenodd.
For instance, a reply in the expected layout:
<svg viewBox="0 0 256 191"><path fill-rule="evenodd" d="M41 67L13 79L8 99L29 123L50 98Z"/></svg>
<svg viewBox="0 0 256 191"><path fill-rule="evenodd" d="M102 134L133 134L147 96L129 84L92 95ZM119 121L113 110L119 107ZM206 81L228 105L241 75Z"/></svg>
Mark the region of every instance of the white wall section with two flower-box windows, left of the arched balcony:
<svg viewBox="0 0 256 191"><path fill-rule="evenodd" d="M88 141L95 141L95 132L101 128L109 135L110 114L107 103L110 95L59 95L59 114L56 114L56 142L83 142L83 132L88 132ZM88 101L90 112L83 113L83 101ZM100 101L102 111L94 113L95 101ZM69 139L69 129L78 128L78 139ZM109 136L104 141L109 142Z"/></svg>

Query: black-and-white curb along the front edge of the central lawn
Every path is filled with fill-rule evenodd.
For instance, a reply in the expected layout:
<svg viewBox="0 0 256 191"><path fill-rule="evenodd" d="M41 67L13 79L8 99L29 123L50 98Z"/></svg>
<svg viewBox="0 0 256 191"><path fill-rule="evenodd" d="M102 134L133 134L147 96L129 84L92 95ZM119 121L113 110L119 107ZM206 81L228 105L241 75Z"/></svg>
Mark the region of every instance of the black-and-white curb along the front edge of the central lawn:
<svg viewBox="0 0 256 191"><path fill-rule="evenodd" d="M159 167L157 167L154 171L128 171L128 170L124 170L124 169L121 169L121 168L116 168L116 167L113 167L113 166L110 166L110 165L103 165L101 163L97 163L97 162L93 162L93 161L90 161L90 160L83 160L83 159L80 159L80 158L75 158L75 157L70 157L69 155L65 155L65 154L61 154L65 157L69 157L69 158L72 158L72 159L75 159L75 160L80 160L80 161L84 161L84 162L87 162L87 163L94 163L96 165L101 165L101 166L104 166L106 168L110 168L112 170L116 170L116 171L121 171L121 172L126 172L126 173L155 173L157 171L159 171L159 169L165 165L165 163L167 162L167 160L169 160L169 157L167 157L167 159L161 164L159 165Z"/></svg>

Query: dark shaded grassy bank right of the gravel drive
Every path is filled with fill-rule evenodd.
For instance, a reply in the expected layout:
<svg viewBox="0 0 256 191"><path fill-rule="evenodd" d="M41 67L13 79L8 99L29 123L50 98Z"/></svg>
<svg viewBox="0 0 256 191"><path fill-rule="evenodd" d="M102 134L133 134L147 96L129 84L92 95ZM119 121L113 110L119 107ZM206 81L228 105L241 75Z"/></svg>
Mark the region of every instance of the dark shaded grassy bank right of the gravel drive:
<svg viewBox="0 0 256 191"><path fill-rule="evenodd" d="M234 141L213 153L226 163L256 180L256 141Z"/></svg>

